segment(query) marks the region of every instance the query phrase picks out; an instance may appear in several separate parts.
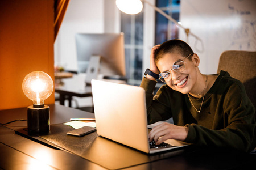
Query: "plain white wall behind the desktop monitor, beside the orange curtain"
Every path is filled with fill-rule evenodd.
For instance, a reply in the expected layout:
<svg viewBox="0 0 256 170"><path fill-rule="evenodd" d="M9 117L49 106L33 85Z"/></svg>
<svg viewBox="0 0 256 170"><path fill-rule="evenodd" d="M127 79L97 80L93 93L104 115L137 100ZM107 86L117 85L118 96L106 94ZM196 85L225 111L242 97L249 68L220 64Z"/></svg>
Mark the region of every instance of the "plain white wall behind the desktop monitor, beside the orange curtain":
<svg viewBox="0 0 256 170"><path fill-rule="evenodd" d="M75 34L104 32L104 0L70 1L55 41L55 65L77 70Z"/></svg>

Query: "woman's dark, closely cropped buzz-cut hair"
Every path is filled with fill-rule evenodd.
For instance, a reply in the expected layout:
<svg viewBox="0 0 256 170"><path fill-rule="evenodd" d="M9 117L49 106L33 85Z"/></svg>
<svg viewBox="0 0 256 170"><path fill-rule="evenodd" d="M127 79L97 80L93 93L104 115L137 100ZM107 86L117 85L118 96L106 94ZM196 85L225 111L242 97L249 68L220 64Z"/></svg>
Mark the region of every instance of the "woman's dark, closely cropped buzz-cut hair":
<svg viewBox="0 0 256 170"><path fill-rule="evenodd" d="M189 54L194 54L193 50L186 42L178 39L168 40L161 44L155 51L155 63L167 53L176 53L183 57L188 57ZM191 57L188 58L191 59Z"/></svg>

